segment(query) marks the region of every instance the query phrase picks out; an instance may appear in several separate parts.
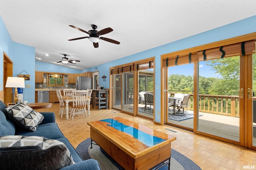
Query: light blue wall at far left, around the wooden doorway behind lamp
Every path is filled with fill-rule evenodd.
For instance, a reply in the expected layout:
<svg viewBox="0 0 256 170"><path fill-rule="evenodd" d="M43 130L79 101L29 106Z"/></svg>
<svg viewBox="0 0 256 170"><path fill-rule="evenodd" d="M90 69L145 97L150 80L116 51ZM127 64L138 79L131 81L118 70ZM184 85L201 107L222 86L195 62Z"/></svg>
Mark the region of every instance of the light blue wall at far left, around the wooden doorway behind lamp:
<svg viewBox="0 0 256 170"><path fill-rule="evenodd" d="M18 76L23 70L30 74L30 80L25 81L25 86L30 85L30 88L23 89L23 100L30 103L35 101L35 48L28 45L13 42L2 18L0 18L0 53L3 52L13 62L13 76ZM0 90L3 90L3 55L0 55Z"/></svg>

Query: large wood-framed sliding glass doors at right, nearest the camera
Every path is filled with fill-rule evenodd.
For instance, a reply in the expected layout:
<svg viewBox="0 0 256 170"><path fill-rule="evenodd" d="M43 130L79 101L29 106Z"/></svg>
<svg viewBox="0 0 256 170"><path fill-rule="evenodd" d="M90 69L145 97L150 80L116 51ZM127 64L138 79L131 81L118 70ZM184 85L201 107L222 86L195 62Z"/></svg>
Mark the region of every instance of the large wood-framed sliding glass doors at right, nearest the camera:
<svg viewBox="0 0 256 170"><path fill-rule="evenodd" d="M165 123L256 150L255 41L232 41L222 46L225 43L206 50L198 47L192 53L184 50L165 55L162 61ZM190 90L189 104L184 107L182 99ZM185 124L189 120L183 117L189 115L190 109L191 124ZM180 121L170 120L172 115Z"/></svg>

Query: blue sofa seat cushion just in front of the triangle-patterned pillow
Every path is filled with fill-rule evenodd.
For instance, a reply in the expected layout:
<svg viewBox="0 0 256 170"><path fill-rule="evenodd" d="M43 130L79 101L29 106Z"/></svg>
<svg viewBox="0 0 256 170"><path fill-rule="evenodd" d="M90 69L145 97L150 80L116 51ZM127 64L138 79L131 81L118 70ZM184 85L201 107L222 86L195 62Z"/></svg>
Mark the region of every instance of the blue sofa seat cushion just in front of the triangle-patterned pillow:
<svg viewBox="0 0 256 170"><path fill-rule="evenodd" d="M60 131L57 123L46 123L43 125L38 125L37 130L34 132L27 131L24 129L16 129L15 135L23 136L42 136L48 139L58 139L64 137L63 133Z"/></svg>

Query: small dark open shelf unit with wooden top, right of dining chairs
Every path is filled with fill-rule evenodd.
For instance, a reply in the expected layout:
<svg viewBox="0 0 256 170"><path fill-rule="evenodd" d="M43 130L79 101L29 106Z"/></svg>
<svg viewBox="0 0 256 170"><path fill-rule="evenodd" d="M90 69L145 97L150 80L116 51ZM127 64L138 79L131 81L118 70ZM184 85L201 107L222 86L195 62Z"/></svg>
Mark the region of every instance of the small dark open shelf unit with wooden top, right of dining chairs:
<svg viewBox="0 0 256 170"><path fill-rule="evenodd" d="M108 109L108 90L92 90L92 108Z"/></svg>

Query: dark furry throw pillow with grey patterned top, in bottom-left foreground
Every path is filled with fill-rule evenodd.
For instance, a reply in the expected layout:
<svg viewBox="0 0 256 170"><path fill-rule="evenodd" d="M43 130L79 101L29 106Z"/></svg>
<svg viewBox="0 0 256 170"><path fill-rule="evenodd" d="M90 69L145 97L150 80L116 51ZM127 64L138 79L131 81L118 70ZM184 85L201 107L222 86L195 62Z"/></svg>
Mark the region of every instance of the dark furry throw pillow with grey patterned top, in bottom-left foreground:
<svg viewBox="0 0 256 170"><path fill-rule="evenodd" d="M74 164L64 143L37 136L0 137L0 158L4 170L57 170Z"/></svg>

